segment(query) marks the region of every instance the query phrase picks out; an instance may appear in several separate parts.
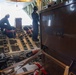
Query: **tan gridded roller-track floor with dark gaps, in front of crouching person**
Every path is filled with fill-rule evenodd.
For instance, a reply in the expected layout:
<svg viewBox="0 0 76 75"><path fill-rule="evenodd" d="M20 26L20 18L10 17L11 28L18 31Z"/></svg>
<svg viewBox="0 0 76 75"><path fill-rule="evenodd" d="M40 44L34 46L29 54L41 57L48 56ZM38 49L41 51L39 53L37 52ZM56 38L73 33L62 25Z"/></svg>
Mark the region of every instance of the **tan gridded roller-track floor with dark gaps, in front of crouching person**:
<svg viewBox="0 0 76 75"><path fill-rule="evenodd" d="M26 31L17 31L16 38L9 38L0 34L0 53L16 53L21 51L37 49L37 43L26 33Z"/></svg>

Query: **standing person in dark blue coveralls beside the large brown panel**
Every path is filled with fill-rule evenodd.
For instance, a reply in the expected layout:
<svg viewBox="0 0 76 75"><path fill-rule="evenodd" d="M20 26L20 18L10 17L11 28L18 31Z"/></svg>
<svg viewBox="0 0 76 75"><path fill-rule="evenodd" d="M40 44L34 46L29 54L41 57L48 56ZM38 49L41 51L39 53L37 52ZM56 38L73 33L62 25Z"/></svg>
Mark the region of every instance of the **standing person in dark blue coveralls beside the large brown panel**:
<svg viewBox="0 0 76 75"><path fill-rule="evenodd" d="M33 35L32 39L33 41L39 41L38 39L38 21L39 21L39 15L37 13L38 8L34 6L32 13L32 19L33 19Z"/></svg>

